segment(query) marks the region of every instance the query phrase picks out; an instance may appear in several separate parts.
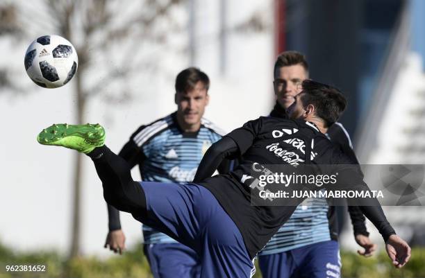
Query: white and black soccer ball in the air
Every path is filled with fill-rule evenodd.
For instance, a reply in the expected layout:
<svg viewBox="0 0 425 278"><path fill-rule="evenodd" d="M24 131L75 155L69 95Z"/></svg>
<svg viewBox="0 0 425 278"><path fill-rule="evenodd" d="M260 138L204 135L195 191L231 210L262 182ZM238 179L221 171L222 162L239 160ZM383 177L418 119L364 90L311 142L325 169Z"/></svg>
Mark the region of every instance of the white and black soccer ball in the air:
<svg viewBox="0 0 425 278"><path fill-rule="evenodd" d="M26 49L26 73L44 88L61 87L72 79L78 67L74 46L58 35L44 35Z"/></svg>

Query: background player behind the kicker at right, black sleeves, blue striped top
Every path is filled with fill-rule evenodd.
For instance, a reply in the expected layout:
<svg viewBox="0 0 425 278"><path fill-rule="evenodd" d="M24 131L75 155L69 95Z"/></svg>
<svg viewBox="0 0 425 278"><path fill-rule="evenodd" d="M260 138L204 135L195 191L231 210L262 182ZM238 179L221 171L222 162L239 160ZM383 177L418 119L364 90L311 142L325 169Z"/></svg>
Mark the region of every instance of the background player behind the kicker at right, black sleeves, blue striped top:
<svg viewBox="0 0 425 278"><path fill-rule="evenodd" d="M288 118L286 109L301 92L301 82L308 78L308 62L297 51L285 51L274 64L276 104L270 116ZM328 128L327 137L353 161L357 161L351 139L341 123ZM260 269L265 278L322 277L326 271L340 275L337 207L326 199L313 199L299 205L285 225L259 254ZM343 209L343 207L342 207ZM359 254L368 257L376 250L369 240L365 216L360 209L349 207L356 242L365 248ZM324 276L323 276L324 277Z"/></svg>

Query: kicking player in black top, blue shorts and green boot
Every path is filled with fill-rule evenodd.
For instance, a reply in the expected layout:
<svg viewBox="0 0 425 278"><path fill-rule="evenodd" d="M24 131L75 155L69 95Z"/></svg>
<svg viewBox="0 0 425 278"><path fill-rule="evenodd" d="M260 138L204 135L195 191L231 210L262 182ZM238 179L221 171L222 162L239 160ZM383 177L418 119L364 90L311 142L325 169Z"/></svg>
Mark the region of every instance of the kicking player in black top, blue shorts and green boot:
<svg viewBox="0 0 425 278"><path fill-rule="evenodd" d="M358 165L347 165L349 157L323 134L344 111L344 96L312 80L303 81L302 87L290 110L292 120L260 117L226 134L208 149L194 183L135 182L126 161L104 145L100 125L52 125L40 132L38 142L92 158L106 201L195 250L201 277L248 278L253 275L251 260L303 201L289 198L281 206L259 205L264 199L251 190L253 167L331 164L338 166L340 176L349 176L349 184L342 184L346 189L369 191ZM293 130L290 139L302 141L305 148L286 144L275 136L276 130ZM271 144L278 146L278 153L270 150ZM282 157L285 153L290 156ZM210 177L224 158L236 155L242 159L235 170ZM360 199L358 205L383 236L394 266L403 267L410 259L410 247L395 234L378 200Z"/></svg>

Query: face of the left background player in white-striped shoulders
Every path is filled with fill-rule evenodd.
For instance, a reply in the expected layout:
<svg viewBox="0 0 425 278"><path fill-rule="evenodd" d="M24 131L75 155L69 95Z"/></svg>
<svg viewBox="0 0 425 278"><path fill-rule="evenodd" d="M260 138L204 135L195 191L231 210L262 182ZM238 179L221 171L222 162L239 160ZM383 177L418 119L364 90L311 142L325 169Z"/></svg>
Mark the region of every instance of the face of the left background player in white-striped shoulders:
<svg viewBox="0 0 425 278"><path fill-rule="evenodd" d="M175 96L177 116L186 126L199 125L209 96L203 82L197 82L189 92L177 92Z"/></svg>

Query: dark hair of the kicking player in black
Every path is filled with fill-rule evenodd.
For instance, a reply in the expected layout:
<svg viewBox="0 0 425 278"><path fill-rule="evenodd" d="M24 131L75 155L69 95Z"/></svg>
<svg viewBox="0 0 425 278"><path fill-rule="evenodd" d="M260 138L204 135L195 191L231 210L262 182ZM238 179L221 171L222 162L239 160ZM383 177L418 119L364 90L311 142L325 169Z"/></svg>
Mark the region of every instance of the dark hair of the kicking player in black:
<svg viewBox="0 0 425 278"><path fill-rule="evenodd" d="M347 98L339 89L309 79L302 82L302 87L303 90L300 93L302 104L314 105L316 115L324 120L326 127L340 119L347 107Z"/></svg>

